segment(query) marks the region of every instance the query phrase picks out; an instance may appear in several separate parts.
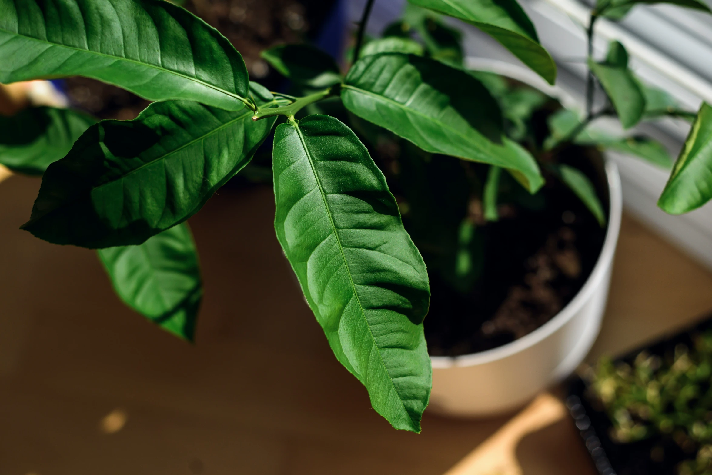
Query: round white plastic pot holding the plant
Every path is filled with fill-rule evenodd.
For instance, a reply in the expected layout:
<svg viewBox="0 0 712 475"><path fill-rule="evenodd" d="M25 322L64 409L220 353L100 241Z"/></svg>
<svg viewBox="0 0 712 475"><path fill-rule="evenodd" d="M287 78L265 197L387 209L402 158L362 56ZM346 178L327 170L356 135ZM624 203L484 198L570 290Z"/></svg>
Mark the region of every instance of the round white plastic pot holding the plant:
<svg viewBox="0 0 712 475"><path fill-rule="evenodd" d="M530 72L523 68L507 65L503 70L490 61L486 67L481 63L476 66L540 87L540 82L530 80ZM512 68L516 68L514 74ZM555 91L551 87L540 89L557 95L552 94ZM608 230L598 261L580 292L553 319L523 338L480 353L432 356L430 410L458 416L507 412L565 378L583 361L600 330L621 223L618 169L607 161L605 171L610 206Z"/></svg>

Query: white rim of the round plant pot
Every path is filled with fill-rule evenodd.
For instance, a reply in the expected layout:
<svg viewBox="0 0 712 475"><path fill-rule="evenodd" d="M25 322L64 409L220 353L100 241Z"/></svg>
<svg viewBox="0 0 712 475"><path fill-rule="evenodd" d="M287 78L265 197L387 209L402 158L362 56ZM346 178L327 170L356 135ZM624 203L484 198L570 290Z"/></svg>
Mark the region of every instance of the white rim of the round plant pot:
<svg viewBox="0 0 712 475"><path fill-rule="evenodd" d="M542 92L545 92L547 95L557 98L564 105L575 103L560 87L548 85L538 75L521 66L485 58L467 58L467 65L469 68L488 70L492 73L506 75L510 78L528 83L542 90ZM430 360L433 368L482 365L507 358L515 353L520 353L540 343L540 341L545 340L559 330L590 300L592 294L606 277L606 273L612 264L622 219L623 196L618 167L611 160L605 160L604 164L609 193L608 229L606 230L606 237L596 265L593 267L591 274L575 297L571 299L559 313L531 333L515 341L486 351L478 351L477 353L468 353L459 356L431 356Z"/></svg>

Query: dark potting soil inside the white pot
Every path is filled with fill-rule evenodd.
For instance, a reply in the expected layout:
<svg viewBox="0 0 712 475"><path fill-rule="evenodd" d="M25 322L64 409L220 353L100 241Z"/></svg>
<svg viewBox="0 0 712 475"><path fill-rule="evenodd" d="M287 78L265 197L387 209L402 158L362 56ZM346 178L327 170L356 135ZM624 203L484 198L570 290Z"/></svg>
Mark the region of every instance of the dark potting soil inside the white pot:
<svg viewBox="0 0 712 475"><path fill-rule="evenodd" d="M521 338L552 319L586 282L605 228L558 181L540 193L542 210L512 207L509 217L483 225L482 277L471 292L431 274L424 323L431 355L476 353Z"/></svg>

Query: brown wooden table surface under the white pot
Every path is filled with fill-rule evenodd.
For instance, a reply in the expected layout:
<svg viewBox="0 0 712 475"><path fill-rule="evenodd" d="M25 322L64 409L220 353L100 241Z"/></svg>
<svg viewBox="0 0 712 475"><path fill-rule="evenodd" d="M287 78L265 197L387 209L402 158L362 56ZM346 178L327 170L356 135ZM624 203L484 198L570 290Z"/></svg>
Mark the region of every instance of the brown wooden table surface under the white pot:
<svg viewBox="0 0 712 475"><path fill-rule="evenodd" d="M190 221L206 289L191 346L125 308L94 252L17 229L38 183L0 185L0 475L440 475L511 418L426 412L417 435L373 412L300 296L269 189L223 190ZM711 289L625 216L590 358L696 319ZM526 475L595 474L567 418L515 452Z"/></svg>

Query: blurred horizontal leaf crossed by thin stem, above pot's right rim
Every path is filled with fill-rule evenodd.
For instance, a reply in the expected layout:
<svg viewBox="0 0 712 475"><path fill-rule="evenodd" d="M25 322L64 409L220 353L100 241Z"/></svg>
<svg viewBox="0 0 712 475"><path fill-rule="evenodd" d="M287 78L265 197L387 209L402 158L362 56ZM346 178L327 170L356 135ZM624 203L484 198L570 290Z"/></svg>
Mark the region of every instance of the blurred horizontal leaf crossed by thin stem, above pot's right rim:
<svg viewBox="0 0 712 475"><path fill-rule="evenodd" d="M545 148L552 149L561 140L569 137L580 123L577 114L572 110L562 109L553 114L549 118L551 136L545 142ZM664 169L670 169L672 166L672 158L667 149L663 144L649 137L614 137L593 127L587 127L577 134L573 142L638 156Z"/></svg>

